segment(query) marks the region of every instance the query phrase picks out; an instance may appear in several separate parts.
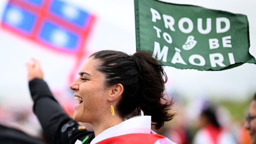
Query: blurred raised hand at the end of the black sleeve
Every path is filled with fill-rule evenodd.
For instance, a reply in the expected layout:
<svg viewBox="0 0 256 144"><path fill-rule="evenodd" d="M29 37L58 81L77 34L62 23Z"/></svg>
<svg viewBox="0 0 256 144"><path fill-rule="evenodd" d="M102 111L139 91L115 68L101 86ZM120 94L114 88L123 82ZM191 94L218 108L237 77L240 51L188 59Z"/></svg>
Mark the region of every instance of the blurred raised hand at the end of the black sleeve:
<svg viewBox="0 0 256 144"><path fill-rule="evenodd" d="M27 62L27 80L30 81L34 78L43 79L43 71L40 62L32 58L32 62Z"/></svg>

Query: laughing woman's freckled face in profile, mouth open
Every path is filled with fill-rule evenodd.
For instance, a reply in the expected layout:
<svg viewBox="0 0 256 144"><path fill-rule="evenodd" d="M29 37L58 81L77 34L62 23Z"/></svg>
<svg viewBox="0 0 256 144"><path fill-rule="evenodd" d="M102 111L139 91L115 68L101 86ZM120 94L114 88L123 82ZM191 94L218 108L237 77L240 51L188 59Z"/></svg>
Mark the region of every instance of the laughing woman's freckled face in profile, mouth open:
<svg viewBox="0 0 256 144"><path fill-rule="evenodd" d="M79 77L70 84L70 89L75 91L75 99L78 99L74 113L74 119L78 122L94 123L110 112L110 89L104 86L104 75L95 69L96 62L89 58L80 70Z"/></svg>

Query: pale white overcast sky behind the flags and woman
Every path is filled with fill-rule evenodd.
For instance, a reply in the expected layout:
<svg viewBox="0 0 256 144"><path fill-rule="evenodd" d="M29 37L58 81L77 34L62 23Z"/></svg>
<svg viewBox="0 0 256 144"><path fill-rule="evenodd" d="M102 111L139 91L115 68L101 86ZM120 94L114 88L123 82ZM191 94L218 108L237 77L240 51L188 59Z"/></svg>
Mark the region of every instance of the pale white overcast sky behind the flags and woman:
<svg viewBox="0 0 256 144"><path fill-rule="evenodd" d="M70 0L65 1L71 3ZM0 1L1 15L7 2L7 0ZM256 56L256 2L253 0L168 0L168 2L246 14L250 26L250 53ZM72 4L96 16L86 48L91 51L120 50L130 54L136 51L133 0L72 0ZM25 97L29 98L25 63L31 57L42 61L45 79L51 87L57 90L67 87L67 75L74 65L73 56L49 53L45 49L38 48L39 45L2 29L0 29L0 43L2 97L26 95ZM181 93L184 97L205 95L240 100L245 99L245 96L252 96L256 91L255 64L243 64L233 69L214 72L181 70L173 67L165 67L165 69L169 78L167 88ZM14 89L16 91L13 91Z"/></svg>

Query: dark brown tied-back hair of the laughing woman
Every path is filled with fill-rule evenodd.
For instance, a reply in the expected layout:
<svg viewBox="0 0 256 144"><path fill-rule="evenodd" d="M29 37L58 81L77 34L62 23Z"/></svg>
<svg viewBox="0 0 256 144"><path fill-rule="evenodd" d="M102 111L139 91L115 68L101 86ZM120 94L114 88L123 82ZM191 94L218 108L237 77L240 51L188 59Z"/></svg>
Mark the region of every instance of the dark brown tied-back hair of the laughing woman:
<svg viewBox="0 0 256 144"><path fill-rule="evenodd" d="M103 50L90 57L98 60L96 70L105 75L106 86L120 83L124 91L116 106L124 118L139 114L151 115L155 128L159 129L165 121L175 114L170 112L173 99L165 99L167 76L163 65L148 51L137 51L132 56L121 51Z"/></svg>

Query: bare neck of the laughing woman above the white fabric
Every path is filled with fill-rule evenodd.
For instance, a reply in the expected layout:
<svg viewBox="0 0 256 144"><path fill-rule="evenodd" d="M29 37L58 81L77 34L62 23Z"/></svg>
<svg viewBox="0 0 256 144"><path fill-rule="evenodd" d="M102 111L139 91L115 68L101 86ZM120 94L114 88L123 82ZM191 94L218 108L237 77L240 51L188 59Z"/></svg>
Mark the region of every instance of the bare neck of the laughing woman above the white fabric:
<svg viewBox="0 0 256 144"><path fill-rule="evenodd" d="M122 123L124 121L123 118L118 117L117 115L115 116L110 116L106 118L103 121L97 122L97 123L92 123L93 129L94 129L94 134L95 136L98 136L102 131L107 130L108 128L118 125L119 123Z"/></svg>

